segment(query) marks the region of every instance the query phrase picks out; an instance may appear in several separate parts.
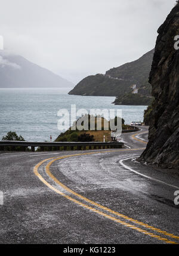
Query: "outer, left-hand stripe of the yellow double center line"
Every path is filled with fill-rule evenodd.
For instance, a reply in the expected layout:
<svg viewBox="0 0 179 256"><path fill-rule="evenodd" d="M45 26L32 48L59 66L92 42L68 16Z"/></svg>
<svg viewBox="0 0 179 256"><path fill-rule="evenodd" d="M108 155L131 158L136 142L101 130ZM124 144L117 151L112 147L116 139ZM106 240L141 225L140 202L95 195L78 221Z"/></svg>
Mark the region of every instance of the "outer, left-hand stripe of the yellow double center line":
<svg viewBox="0 0 179 256"><path fill-rule="evenodd" d="M129 223L125 223L125 221L121 221L121 220L119 220L118 218L112 217L112 216L110 216L110 215L108 215L108 214L104 214L104 212L98 211L98 210L95 209L95 208L92 208L92 207L90 207L90 206L88 206L88 205L85 205L84 203L81 203L81 202L77 201L76 199L74 199L74 198L72 198L72 197L70 197L70 196L68 196L68 195L66 195L66 194L64 194L64 193L62 193L62 192L60 192L60 190L55 189L55 187L51 186L51 184L48 183L48 182L41 176L41 174L39 174L39 172L38 172L39 166L41 166L45 161L48 161L48 159L45 159L44 161L41 161L39 164L37 164L37 165L34 167L34 170L33 170L33 171L34 171L35 175L36 175L45 185L47 185L51 190L54 190L54 192L58 193L59 195L63 196L63 197L66 198L66 199L69 199L69 200L72 201L72 202L75 202L75 203L78 204L78 205L82 205L82 206L84 206L85 208L88 208L88 209L90 209L91 211L96 212L97 214L100 214L100 215L102 215L102 216L104 216L104 217L106 217L106 218L109 218L110 220L113 220L113 221L115 221L115 222L117 222L117 223L120 223L120 224L126 226L126 227L129 227L130 229L137 230L138 232L144 233L145 235L149 235L149 236L152 237L152 238L156 238L156 239L158 239L158 240L162 240L163 242L166 242L166 243L177 244L177 243L174 242L174 241L170 241L170 240L168 240L168 239L162 238L161 236L155 235L155 234L153 234L153 233L151 233L151 232L147 232L146 230L139 229L138 227L136 227L136 226L134 226L134 225L131 225L131 224L129 224Z"/></svg>

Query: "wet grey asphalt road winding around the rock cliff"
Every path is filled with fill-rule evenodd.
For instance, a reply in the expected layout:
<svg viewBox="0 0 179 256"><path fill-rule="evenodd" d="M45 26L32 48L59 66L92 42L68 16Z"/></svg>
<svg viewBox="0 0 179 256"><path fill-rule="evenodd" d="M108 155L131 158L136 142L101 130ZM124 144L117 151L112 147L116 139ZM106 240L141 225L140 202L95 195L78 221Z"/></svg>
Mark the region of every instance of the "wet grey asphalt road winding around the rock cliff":
<svg viewBox="0 0 179 256"><path fill-rule="evenodd" d="M0 155L0 243L179 243L178 172L128 159L144 132L121 150Z"/></svg>

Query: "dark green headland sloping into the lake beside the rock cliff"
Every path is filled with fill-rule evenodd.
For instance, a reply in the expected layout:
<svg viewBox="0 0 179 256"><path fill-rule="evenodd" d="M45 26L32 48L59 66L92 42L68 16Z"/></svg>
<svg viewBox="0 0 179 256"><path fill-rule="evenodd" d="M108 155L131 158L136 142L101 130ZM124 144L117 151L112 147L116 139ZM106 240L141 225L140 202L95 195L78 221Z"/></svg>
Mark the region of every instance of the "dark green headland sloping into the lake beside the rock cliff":
<svg viewBox="0 0 179 256"><path fill-rule="evenodd" d="M138 60L108 70L105 75L87 76L69 94L87 96L118 96L140 94L151 97L148 83L154 50L144 54ZM118 104L116 98L115 104ZM150 98L149 101L152 99Z"/></svg>

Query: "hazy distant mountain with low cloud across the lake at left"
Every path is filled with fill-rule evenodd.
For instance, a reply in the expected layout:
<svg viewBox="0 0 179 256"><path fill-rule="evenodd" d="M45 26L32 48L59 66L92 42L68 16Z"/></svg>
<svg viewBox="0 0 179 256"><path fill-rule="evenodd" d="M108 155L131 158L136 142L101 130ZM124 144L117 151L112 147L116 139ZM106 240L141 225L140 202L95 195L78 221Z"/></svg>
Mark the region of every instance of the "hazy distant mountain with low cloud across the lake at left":
<svg viewBox="0 0 179 256"><path fill-rule="evenodd" d="M18 87L68 87L73 84L28 60L0 51L0 88Z"/></svg>

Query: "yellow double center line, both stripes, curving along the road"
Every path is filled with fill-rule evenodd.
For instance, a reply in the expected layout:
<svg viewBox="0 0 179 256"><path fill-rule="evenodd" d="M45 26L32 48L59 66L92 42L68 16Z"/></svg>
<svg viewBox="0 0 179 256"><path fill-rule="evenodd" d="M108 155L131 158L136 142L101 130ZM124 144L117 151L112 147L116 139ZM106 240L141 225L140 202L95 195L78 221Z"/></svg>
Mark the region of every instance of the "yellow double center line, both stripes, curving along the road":
<svg viewBox="0 0 179 256"><path fill-rule="evenodd" d="M128 150L128 149L125 149L125 151ZM132 149L132 150L138 150L138 149ZM72 201L74 203L76 203L77 205L81 205L83 206L84 208L87 208L87 209L90 209L92 212L95 212L99 215L102 215L103 217L106 217L112 221L115 221L116 223L120 223L126 227L129 227L131 229L134 229L134 230L137 230L138 232L141 232L141 233L144 233L145 235L149 235L150 237L152 238L156 238L158 240L162 240L163 242L166 242L166 243L173 243L173 244L176 244L177 242L174 242L174 241L171 241L171 240L168 240L166 238L163 238L162 236L159 236L159 235L155 235L155 233L151 233L151 232L148 232L147 230L144 230L144 229L141 229L140 227L137 227L137 226L134 226L134 224L137 224L138 226L142 226L142 227L145 227L147 229L150 229L154 232L158 232L162 235L165 235L165 236L169 236L170 238L173 238L173 239L177 239L179 240L179 237L178 236L175 236L171 233L168 233L168 232L165 232L161 229L158 229L156 227L153 227L153 226L149 226L148 224L145 224L141 221L138 221L138 220L134 220L133 218L130 218L124 214L120 214L119 212L116 212L116 211L113 211L112 209L109 209L107 208L106 206L103 206L103 205L100 205L99 203L96 203L94 201L91 201L90 199L88 198L85 198L84 196L82 195L79 195L78 193L74 192L73 190L69 189L67 186L65 186L63 183L61 183L59 180L57 180L57 178L54 177L54 175L50 172L50 166L51 164L53 164L53 162L57 161L57 160L60 160L60 159L64 159L64 158L70 158L72 156L82 156L82 155L92 155L92 154L96 154L96 153L107 153L107 152L120 152L120 151L124 151L124 150L108 150L108 151L103 151L103 152L90 152L90 153L79 153L79 154L74 154L74 155L67 155L67 156L61 156L60 158L49 158L49 159L45 159L44 161L41 161L39 162L39 164L37 164L35 167L34 167L34 172L35 172L35 175L45 184L47 185L50 189L54 190L56 193L58 193L59 195L63 196L64 198L68 199L69 201ZM131 151L131 150L130 150ZM52 160L53 159L53 160ZM50 161L51 160L51 161ZM38 172L38 168L39 166L41 166L42 164L44 164L44 162L47 162L47 161L50 161L47 166L46 166L46 172L47 174L55 181L55 183L57 183L58 185L60 185L61 187L63 187L64 190L66 190L67 192L71 193L72 195L78 197L79 199L82 199L83 201L85 202L88 202L90 203L91 205L94 205L96 206L97 208L100 208L100 209L103 209L103 211L106 211L108 212L109 214L113 214L113 215L116 215L118 217L121 217L127 221L130 221L132 224L130 223L126 223L125 221L122 221L122 220L119 220L119 218L116 218L116 217L113 217L109 214L106 214L105 212L102 212L102 211L99 211L98 209L94 208L94 207L91 207L89 205L86 205L85 203L82 203L78 200L76 200L75 198L72 198L71 196L68 196L66 195L65 193L62 193L60 190L56 189L55 187L51 186L50 183L48 183L42 176L41 174L39 174Z"/></svg>

